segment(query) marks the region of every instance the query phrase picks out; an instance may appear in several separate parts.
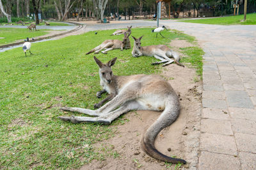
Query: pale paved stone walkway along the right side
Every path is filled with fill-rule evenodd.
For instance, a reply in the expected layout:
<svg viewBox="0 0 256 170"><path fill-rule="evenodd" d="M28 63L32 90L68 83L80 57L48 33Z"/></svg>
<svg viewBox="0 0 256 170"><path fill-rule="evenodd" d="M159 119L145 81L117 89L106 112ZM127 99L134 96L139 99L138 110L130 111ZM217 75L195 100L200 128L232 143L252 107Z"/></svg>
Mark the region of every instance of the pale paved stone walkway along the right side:
<svg viewBox="0 0 256 170"><path fill-rule="evenodd" d="M198 169L256 169L256 26L161 24L205 52Z"/></svg>

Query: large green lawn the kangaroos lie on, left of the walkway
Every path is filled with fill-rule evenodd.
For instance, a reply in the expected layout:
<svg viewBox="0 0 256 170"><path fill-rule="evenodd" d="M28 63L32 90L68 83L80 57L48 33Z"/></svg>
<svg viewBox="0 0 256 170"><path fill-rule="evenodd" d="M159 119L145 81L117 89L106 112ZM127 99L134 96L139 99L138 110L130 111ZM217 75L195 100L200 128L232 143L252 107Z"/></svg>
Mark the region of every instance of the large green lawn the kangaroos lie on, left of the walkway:
<svg viewBox="0 0 256 170"><path fill-rule="evenodd" d="M122 35L109 36L113 31L33 43L33 54L28 57L21 48L0 53L0 169L76 169L92 159L118 157L118 151L99 151L93 143L115 135L116 124L127 121L124 118L109 126L72 124L57 118L82 115L62 112L61 106L93 109L100 101L95 96L101 89L99 67L94 54L85 54L106 39L122 40ZM155 38L151 28L132 29L132 35L144 35L142 45L167 44L175 38L193 40L169 31L163 33L167 38ZM131 51L111 50L95 56L103 62L118 57L113 66L116 75L161 72L161 65L150 65L157 59L132 58Z"/></svg>

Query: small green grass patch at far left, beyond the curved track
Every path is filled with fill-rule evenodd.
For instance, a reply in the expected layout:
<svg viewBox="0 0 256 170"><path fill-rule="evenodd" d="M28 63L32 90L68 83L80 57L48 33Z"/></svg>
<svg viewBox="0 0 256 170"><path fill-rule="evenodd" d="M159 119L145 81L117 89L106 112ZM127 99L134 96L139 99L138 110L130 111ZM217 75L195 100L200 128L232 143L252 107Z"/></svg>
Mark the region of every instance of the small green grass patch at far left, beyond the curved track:
<svg viewBox="0 0 256 170"><path fill-rule="evenodd" d="M46 35L48 29L40 29L38 31L29 31L26 28L0 27L0 45L15 42L16 40L26 40L36 36Z"/></svg>

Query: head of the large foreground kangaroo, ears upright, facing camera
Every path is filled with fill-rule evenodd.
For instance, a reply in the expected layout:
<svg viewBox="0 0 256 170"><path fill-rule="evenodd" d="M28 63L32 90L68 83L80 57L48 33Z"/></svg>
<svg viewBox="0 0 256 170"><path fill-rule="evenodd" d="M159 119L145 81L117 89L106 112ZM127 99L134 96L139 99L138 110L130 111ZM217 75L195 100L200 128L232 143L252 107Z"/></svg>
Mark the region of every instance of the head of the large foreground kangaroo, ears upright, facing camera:
<svg viewBox="0 0 256 170"><path fill-rule="evenodd" d="M111 83L113 80L113 72L111 69L111 66L115 65L116 59L113 58L108 63L103 64L99 59L97 59L95 56L93 57L97 65L99 66L99 74L100 74L100 80L106 82L106 83Z"/></svg>

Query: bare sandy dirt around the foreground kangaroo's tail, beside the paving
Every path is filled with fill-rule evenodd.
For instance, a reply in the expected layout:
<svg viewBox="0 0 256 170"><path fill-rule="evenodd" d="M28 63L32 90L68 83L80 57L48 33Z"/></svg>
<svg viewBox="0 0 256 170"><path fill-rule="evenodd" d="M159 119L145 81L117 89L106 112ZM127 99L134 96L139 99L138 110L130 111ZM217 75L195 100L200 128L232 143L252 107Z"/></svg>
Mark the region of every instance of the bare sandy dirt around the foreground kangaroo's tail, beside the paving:
<svg viewBox="0 0 256 170"><path fill-rule="evenodd" d="M161 75L172 84L180 98L181 111L179 118L164 128L156 139L156 148L168 156L185 159L184 168L196 167L200 137L200 114L202 109L202 82L194 82L195 70L175 64L163 68ZM112 146L119 157L109 157L104 161L93 160L81 169L169 169L170 165L148 157L141 150L140 140L145 130L156 121L161 112L136 111L128 112L129 119L124 125L118 125L115 137L95 144ZM172 165L174 169L175 165Z"/></svg>

